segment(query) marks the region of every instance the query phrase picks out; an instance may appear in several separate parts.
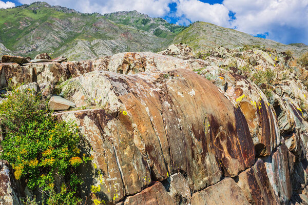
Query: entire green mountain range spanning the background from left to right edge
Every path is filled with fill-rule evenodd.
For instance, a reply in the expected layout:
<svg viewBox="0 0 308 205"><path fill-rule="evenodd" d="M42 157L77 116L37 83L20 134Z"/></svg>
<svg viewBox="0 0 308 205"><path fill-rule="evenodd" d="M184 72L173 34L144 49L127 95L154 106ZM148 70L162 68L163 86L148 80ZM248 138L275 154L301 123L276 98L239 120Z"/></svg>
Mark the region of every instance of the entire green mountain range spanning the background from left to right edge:
<svg viewBox="0 0 308 205"><path fill-rule="evenodd" d="M194 51L243 45L292 50L296 55L308 50L305 45L284 45L209 23L197 22L187 28L137 11L84 14L44 2L0 9L0 30L0 55L34 57L47 52L69 60L128 51L157 52L180 42Z"/></svg>

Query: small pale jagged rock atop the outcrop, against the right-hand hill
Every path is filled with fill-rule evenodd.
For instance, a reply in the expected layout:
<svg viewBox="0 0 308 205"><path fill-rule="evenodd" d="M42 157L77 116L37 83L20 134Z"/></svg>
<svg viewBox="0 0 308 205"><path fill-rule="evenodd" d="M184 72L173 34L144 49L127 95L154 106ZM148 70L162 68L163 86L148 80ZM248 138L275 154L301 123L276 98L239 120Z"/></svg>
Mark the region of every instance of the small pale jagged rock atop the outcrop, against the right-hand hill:
<svg viewBox="0 0 308 205"><path fill-rule="evenodd" d="M184 60L195 59L194 53L192 52L191 48L183 44L172 44L167 48L167 50L161 51L159 52L159 54L170 55L182 58Z"/></svg>

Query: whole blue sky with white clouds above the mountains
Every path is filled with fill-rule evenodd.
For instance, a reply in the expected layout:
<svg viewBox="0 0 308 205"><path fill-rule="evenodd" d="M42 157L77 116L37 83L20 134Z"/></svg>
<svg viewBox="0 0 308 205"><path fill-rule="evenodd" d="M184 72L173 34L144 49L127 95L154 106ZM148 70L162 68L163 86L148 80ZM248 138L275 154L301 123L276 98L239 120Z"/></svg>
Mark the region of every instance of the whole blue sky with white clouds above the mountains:
<svg viewBox="0 0 308 205"><path fill-rule="evenodd" d="M37 1L37 0L36 0ZM42 1L42 0L41 0ZM33 0L0 0L0 8ZM284 44L308 45L308 0L45 0L83 13L137 10L187 26L197 20Z"/></svg>

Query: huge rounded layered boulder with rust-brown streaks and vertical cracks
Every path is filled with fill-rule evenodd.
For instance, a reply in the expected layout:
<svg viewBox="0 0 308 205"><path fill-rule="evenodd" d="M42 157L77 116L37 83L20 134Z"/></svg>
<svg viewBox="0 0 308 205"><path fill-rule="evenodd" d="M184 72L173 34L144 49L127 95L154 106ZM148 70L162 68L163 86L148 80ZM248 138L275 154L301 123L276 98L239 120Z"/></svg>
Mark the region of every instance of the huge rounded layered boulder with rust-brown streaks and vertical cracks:
<svg viewBox="0 0 308 205"><path fill-rule="evenodd" d="M117 180L106 179L109 185L101 186L108 196L104 200L110 201L114 194L119 197L114 201L121 200L151 180L164 180L178 172L185 173L190 189L197 191L222 176L237 176L254 163L253 140L244 115L213 84L193 72L125 76L95 71L69 80L63 92L76 106L103 105L111 111L58 114L82 127L97 167ZM110 154L101 157L102 153ZM137 167L130 167L131 161ZM118 192L108 192L115 183L120 185Z"/></svg>

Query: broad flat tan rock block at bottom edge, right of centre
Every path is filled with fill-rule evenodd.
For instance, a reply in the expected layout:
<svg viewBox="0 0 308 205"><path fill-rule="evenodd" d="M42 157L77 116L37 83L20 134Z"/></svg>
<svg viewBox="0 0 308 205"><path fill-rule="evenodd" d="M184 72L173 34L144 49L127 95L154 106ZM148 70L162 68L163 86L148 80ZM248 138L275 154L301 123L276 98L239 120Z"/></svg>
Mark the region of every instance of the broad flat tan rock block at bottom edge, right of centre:
<svg viewBox="0 0 308 205"><path fill-rule="evenodd" d="M216 185L192 194L191 205L203 204L250 204L241 188L232 178L225 178ZM266 204L266 203L264 203Z"/></svg>

